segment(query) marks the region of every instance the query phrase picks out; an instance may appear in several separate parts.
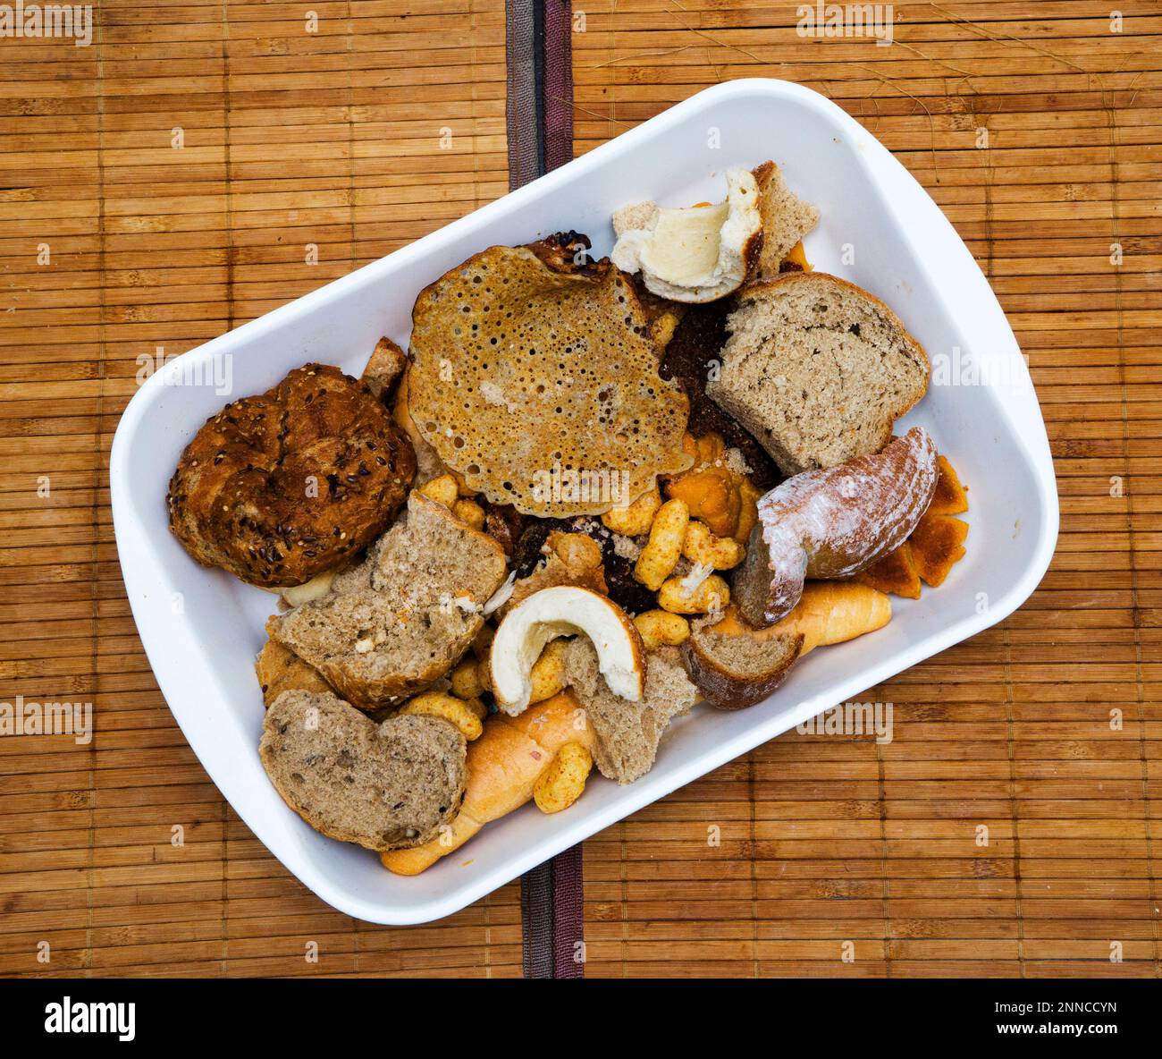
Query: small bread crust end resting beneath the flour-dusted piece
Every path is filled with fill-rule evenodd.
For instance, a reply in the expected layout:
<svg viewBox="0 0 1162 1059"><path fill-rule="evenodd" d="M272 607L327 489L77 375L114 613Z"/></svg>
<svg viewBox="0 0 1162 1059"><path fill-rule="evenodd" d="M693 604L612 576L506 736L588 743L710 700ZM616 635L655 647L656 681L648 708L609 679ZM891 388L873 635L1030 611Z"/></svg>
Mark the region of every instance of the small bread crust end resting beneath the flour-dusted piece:
<svg viewBox="0 0 1162 1059"><path fill-rule="evenodd" d="M783 682L803 650L803 634L756 639L696 625L681 650L687 673L708 702L718 709L743 709Z"/></svg>

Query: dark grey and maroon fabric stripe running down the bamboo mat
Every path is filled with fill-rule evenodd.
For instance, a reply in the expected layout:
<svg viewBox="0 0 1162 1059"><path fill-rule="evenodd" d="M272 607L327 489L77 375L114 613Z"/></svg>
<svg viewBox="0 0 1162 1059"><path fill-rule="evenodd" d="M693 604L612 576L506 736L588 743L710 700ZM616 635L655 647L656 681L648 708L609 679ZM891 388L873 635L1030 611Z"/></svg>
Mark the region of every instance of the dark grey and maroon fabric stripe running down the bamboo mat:
<svg viewBox="0 0 1162 1059"><path fill-rule="evenodd" d="M505 0L509 187L573 157L573 14L569 0ZM530 238L532 234L530 232ZM521 879L525 978L581 978L581 846Z"/></svg>

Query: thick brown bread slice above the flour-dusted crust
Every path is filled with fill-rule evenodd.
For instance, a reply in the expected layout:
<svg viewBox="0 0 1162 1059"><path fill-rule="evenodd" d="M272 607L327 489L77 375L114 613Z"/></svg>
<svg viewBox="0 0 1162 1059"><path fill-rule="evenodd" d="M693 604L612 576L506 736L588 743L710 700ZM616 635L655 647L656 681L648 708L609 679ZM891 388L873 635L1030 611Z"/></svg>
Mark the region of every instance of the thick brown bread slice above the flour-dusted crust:
<svg viewBox="0 0 1162 1059"><path fill-rule="evenodd" d="M786 474L878 452L928 387L928 358L867 291L823 272L753 284L706 393Z"/></svg>

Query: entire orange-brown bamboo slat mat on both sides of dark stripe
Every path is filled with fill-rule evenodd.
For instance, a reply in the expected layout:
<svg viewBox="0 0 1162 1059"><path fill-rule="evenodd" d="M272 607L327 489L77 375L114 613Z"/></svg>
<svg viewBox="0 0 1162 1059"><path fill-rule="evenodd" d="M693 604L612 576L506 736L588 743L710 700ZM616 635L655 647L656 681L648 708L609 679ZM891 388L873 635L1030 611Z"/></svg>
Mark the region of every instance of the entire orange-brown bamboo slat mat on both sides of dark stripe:
<svg viewBox="0 0 1162 1059"><path fill-rule="evenodd" d="M588 975L1162 973L1162 12L1119 7L1113 34L1088 0L899 5L884 49L801 38L790 3L575 5L578 152L746 76L897 152L1018 331L1062 496L1030 603L866 693L890 745L783 737L586 844ZM0 701L96 714L88 745L0 739L0 974L519 974L516 885L356 923L222 802L137 639L106 474L139 357L507 189L503 5L96 21L85 49L0 40Z"/></svg>

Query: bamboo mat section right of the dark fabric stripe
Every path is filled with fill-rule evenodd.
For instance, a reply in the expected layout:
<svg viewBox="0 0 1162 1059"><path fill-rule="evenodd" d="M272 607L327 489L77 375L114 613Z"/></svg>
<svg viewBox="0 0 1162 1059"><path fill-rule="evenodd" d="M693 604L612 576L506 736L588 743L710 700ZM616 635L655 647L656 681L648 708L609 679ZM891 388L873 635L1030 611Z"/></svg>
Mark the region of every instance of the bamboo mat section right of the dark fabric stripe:
<svg viewBox="0 0 1162 1059"><path fill-rule="evenodd" d="M1162 10L1117 7L897 5L881 48L795 3L584 5L579 153L739 77L896 153L1028 355L1062 503L1021 610L858 696L891 744L792 732L587 842L588 975L1159 975Z"/></svg>

